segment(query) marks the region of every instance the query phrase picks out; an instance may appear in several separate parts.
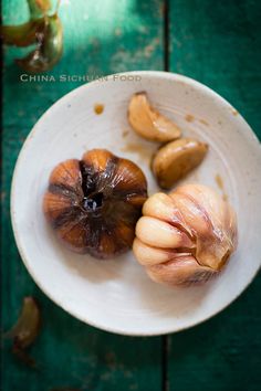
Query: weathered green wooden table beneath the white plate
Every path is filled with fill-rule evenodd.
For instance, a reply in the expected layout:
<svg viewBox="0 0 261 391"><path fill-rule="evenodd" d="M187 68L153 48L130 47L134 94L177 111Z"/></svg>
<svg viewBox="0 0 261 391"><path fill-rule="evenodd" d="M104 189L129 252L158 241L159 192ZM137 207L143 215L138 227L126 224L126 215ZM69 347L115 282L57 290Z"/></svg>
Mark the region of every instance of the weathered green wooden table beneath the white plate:
<svg viewBox="0 0 261 391"><path fill-rule="evenodd" d="M3 0L3 22L28 18L25 0ZM49 74L106 75L168 70L207 84L246 117L261 137L260 1L64 0L64 55ZM41 304L43 327L29 369L2 348L3 391L253 391L260 390L260 276L225 311L190 330L155 338L100 331L72 318L35 286L18 254L10 224L13 167L28 133L58 98L81 82L21 82L4 47L2 120L2 329L22 299ZM239 189L240 191L240 189Z"/></svg>

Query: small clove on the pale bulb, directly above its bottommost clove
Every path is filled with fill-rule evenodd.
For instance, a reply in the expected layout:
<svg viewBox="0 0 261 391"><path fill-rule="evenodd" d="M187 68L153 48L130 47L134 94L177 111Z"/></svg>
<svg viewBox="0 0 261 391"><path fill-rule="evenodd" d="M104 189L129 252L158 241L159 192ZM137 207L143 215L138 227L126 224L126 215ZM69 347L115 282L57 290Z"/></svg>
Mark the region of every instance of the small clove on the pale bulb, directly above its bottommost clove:
<svg viewBox="0 0 261 391"><path fill-rule="evenodd" d="M175 250L153 247L136 237L133 243L133 252L140 265L150 266L171 260Z"/></svg>

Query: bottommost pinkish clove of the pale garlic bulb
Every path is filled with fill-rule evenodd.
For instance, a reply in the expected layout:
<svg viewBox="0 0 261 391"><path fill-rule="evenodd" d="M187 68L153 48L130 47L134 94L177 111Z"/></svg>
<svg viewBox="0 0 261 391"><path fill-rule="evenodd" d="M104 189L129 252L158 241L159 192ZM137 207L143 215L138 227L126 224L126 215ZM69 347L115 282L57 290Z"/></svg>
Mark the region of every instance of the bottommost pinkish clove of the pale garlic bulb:
<svg viewBox="0 0 261 391"><path fill-rule="evenodd" d="M199 265L192 255L187 254L177 254L176 258L148 266L146 271L154 282L177 286L205 283L217 274L211 268Z"/></svg>

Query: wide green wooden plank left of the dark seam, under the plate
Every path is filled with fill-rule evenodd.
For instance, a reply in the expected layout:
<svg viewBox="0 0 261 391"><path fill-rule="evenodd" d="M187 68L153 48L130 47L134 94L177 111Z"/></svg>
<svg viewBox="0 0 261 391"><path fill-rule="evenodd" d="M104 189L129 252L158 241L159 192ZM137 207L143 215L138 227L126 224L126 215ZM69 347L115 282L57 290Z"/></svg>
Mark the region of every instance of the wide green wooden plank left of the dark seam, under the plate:
<svg viewBox="0 0 261 391"><path fill-rule="evenodd" d="M22 4L21 4L22 3ZM55 83L23 83L13 64L24 50L4 47L2 150L2 327L17 319L25 295L35 296L43 327L31 349L31 370L3 349L4 391L150 390L161 385L160 338L127 338L98 331L72 318L34 285L18 254L10 224L9 196L14 162L24 138L44 110L82 82L59 83L65 75L105 75L127 70L163 68L161 1L64 1L64 55L49 74ZM27 20L25 2L3 1L4 23ZM32 162L33 163L33 162ZM24 191L27 176L24 173ZM28 194L30 197L30 194Z"/></svg>

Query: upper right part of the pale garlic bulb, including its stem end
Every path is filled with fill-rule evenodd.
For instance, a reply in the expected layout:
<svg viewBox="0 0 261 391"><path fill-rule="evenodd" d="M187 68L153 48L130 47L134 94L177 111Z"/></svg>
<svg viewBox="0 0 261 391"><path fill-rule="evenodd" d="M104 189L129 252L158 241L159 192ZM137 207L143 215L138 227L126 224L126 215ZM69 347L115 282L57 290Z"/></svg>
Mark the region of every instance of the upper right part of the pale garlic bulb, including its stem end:
<svg viewBox="0 0 261 391"><path fill-rule="evenodd" d="M200 265L219 271L237 245L237 219L232 208L211 188L184 184L169 194L197 237Z"/></svg>

